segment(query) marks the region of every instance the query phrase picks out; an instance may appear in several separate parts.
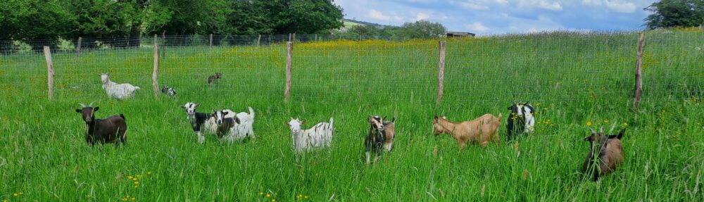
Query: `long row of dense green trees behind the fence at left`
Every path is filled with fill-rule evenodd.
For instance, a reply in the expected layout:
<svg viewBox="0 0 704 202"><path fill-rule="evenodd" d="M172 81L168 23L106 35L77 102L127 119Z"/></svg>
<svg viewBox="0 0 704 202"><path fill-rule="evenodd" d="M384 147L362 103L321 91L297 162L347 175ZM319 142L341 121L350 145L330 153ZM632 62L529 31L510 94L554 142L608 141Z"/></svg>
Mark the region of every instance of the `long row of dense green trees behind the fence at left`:
<svg viewBox="0 0 704 202"><path fill-rule="evenodd" d="M330 0L8 0L0 40L142 34L312 34L341 27Z"/></svg>

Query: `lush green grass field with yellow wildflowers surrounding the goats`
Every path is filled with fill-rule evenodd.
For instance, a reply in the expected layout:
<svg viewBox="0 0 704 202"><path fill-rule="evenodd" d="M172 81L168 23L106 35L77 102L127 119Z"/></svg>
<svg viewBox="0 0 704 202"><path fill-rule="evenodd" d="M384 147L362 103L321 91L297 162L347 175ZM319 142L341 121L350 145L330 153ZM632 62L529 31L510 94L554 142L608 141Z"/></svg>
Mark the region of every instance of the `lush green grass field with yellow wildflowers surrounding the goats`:
<svg viewBox="0 0 704 202"><path fill-rule="evenodd" d="M0 56L0 201L701 201L704 34L646 34L645 91L633 111L637 37L450 40L439 105L433 40L296 44L289 103L285 45L166 47L159 82L175 99L153 98L149 47L54 53L54 101L42 54ZM108 99L101 72L142 90ZM207 87L213 72L224 77ZM125 115L126 146L87 146L75 109L91 101L97 118ZM187 101L201 112L252 106L257 138L198 144L179 108ZM536 132L520 141L505 141L502 125L501 144L460 153L451 137L432 135L433 115L506 117L512 101L540 109ZM395 149L375 165L363 162L369 115L398 117ZM311 127L330 116L332 148L296 163L284 121ZM624 164L598 183L579 171L587 122L627 128Z"/></svg>

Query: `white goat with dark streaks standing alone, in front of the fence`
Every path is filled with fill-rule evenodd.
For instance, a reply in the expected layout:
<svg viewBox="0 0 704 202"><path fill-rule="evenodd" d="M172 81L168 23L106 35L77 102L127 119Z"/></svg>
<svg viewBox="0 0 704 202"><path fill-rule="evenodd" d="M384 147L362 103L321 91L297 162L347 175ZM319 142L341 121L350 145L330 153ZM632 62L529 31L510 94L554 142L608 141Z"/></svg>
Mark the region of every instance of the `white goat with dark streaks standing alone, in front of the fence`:
<svg viewBox="0 0 704 202"><path fill-rule="evenodd" d="M308 130L301 130L301 125L306 121L291 118L289 122L284 122L289 125L291 137L294 139L294 149L297 153L310 151L313 148L325 148L332 144L332 134L334 127L332 125L332 117L330 122L319 122Z"/></svg>

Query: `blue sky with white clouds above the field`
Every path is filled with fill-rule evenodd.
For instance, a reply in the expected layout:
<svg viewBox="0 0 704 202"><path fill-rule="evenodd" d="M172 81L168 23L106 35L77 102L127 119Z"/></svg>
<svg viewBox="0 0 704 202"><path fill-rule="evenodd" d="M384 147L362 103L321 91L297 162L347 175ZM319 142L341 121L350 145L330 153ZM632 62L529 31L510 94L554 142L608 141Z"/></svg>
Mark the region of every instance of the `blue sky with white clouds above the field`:
<svg viewBox="0 0 704 202"><path fill-rule="evenodd" d="M484 34L549 30L643 29L643 11L655 1L624 0L334 0L345 18L382 25L416 20L442 23L448 31Z"/></svg>

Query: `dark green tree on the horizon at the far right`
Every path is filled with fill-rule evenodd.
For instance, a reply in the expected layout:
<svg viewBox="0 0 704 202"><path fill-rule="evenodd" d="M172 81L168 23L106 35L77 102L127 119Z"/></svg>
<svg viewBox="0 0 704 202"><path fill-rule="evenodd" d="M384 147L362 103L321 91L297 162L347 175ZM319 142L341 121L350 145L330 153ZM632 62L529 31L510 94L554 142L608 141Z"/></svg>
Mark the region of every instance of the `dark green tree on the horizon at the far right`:
<svg viewBox="0 0 704 202"><path fill-rule="evenodd" d="M643 24L650 30L704 24L704 0L662 0L643 10L653 12Z"/></svg>

